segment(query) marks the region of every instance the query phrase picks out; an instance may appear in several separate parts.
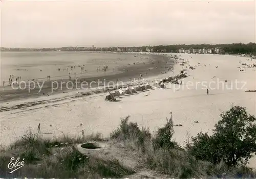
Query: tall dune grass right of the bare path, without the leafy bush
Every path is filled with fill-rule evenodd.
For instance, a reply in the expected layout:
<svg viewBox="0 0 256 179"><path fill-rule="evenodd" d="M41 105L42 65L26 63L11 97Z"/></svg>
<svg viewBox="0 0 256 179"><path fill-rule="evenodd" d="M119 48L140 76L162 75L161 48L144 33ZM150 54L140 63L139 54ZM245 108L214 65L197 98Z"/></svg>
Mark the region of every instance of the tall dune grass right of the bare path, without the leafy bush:
<svg viewBox="0 0 256 179"><path fill-rule="evenodd" d="M171 113L172 114L172 113ZM137 123L128 122L129 116L121 119L117 130L111 133L110 138L124 141L127 147L137 150L144 156L145 167L167 174L170 177L256 177L256 171L246 166L228 167L223 161L219 164L197 160L189 150L178 146L172 140L173 119L167 119L153 136L148 129L139 129Z"/></svg>

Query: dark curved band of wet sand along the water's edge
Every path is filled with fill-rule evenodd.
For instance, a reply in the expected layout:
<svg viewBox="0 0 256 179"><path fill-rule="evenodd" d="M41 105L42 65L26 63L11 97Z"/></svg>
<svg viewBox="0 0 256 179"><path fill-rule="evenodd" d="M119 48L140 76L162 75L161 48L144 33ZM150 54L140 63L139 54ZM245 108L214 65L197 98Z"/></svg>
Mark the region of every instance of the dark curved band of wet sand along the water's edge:
<svg viewBox="0 0 256 179"><path fill-rule="evenodd" d="M148 56L148 55L147 55ZM98 81L100 80L101 82L105 82L105 84L108 84L109 82L116 82L122 81L122 82L127 82L130 81L130 79L138 79L140 74L143 74L144 77L149 77L149 76L155 76L160 73L163 73L167 71L166 68L173 66L174 61L170 59L167 56L160 56L160 55L150 55L151 58L148 58L148 62L146 63L139 63L139 64L131 64L131 65L126 65L124 67L119 67L118 70L115 70L112 72L112 68L109 68L106 73L100 72L100 74L95 75L93 77L89 76L81 76L81 78L76 78L78 83L77 83L77 89L81 89L81 83L80 81L86 81L88 84L90 84L93 81ZM129 61L127 61L127 64ZM154 64L152 64L154 63ZM103 65L102 65L103 66ZM150 71L148 69L151 69ZM110 72L111 71L111 72ZM147 73L147 75L146 75ZM77 76L79 76L77 74ZM38 97L42 96L45 94L57 94L57 93L63 93L71 90L77 90L76 87L74 89L72 88L72 85L67 85L62 84L61 88L61 82L68 82L69 80L63 79L63 80L56 80L58 83L52 83L53 81L45 81L44 85L42 85L41 91L39 91L38 85L35 86L34 89L31 89L31 91L28 91L28 85L27 88L22 90L22 89L12 89L10 86L5 86L1 87L1 96L0 96L0 103L7 102L7 101L13 101L13 100L18 100L18 99L24 99L24 98L31 98L31 97ZM74 83L74 76L72 76L71 81ZM37 83L35 81L35 83ZM38 82L41 86L42 82ZM52 85L53 84L53 85ZM101 83L103 85L103 83ZM24 85L21 85L24 87ZM56 87L58 88L56 89ZM33 86L31 86L32 88ZM93 88L98 87L97 84L94 84L91 86ZM16 87L17 88L17 87ZM84 86L83 86L84 88ZM52 93L52 89L53 90Z"/></svg>

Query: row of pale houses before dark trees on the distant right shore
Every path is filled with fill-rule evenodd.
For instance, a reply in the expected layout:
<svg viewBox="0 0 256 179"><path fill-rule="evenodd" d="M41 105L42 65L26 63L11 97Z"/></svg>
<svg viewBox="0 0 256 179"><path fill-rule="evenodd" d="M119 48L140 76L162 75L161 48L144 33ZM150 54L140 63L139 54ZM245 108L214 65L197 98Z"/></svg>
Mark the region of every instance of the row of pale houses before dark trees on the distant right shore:
<svg viewBox="0 0 256 179"><path fill-rule="evenodd" d="M222 47L216 48L189 48L184 49L180 48L179 53L186 53L186 54L225 54L225 51Z"/></svg>

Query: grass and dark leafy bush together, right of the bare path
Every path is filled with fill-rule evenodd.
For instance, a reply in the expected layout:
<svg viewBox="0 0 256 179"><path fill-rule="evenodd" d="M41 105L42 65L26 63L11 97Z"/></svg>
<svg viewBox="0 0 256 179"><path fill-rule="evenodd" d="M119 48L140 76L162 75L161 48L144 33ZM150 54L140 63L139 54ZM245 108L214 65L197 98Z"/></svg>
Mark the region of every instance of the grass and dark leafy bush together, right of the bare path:
<svg viewBox="0 0 256 179"><path fill-rule="evenodd" d="M128 123L128 116L121 120L111 138L134 143L145 156L148 168L169 176L191 178L226 173L234 177L255 177L255 171L245 164L256 152L256 118L239 106L222 113L221 117L214 135L199 133L191 142L186 142L185 148L172 140L172 116L153 137L148 130L140 131L137 123ZM141 137L144 139L138 140Z"/></svg>

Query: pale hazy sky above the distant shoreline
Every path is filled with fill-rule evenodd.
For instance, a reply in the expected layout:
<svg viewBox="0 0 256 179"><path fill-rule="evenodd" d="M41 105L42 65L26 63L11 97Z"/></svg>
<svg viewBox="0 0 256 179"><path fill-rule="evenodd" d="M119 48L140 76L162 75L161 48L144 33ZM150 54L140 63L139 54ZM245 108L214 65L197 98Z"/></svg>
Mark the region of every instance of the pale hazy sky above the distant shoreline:
<svg viewBox="0 0 256 179"><path fill-rule="evenodd" d="M255 42L256 1L1 0L2 47Z"/></svg>

